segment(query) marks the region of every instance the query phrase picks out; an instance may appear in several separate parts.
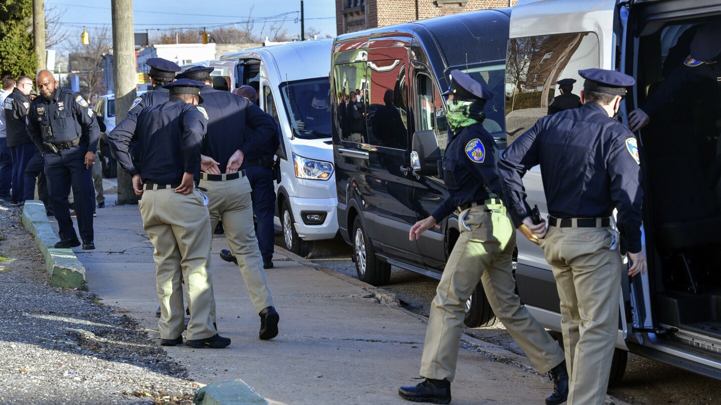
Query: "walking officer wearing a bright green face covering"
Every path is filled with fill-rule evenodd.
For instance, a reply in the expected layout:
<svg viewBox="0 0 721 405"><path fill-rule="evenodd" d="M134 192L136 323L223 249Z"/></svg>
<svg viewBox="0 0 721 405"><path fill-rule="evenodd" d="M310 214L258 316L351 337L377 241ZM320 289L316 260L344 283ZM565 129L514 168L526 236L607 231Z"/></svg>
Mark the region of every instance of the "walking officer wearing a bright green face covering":
<svg viewBox="0 0 721 405"><path fill-rule="evenodd" d="M448 94L448 125L454 135L443 156L443 175L449 197L428 218L410 229L410 240L459 212L461 236L448 257L441 282L430 308L417 386L404 386L399 395L415 402L448 404L456 373L463 332L464 307L479 281L483 283L495 315L518 342L540 373L551 372L555 391L547 404L566 400L564 355L547 331L521 306L515 293L511 255L516 231L498 196L498 149L483 129L486 101L493 94L461 71L451 71Z"/></svg>

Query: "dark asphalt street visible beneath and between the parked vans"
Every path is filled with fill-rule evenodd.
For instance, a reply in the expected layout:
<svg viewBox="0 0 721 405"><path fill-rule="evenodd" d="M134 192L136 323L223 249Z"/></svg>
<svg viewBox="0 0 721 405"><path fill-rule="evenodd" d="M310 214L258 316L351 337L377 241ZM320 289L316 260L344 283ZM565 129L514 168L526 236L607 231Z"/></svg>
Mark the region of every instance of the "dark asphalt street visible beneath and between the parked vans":
<svg viewBox="0 0 721 405"><path fill-rule="evenodd" d="M275 243L283 246L279 234L276 235ZM342 239L317 241L311 260L335 272L357 278L351 254L352 249ZM429 277L393 267L391 282L381 288L395 293L408 310L428 316L436 285L438 282ZM477 339L523 354L500 322L466 331ZM609 389L609 394L631 404L721 404L720 386L712 378L629 354L624 378Z"/></svg>

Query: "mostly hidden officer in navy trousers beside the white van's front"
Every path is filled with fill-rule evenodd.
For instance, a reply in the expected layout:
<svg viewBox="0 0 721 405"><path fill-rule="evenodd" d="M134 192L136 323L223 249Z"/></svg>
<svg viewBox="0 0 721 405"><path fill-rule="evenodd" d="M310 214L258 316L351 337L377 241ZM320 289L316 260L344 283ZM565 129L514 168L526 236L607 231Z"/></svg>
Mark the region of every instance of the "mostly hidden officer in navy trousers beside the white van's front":
<svg viewBox="0 0 721 405"><path fill-rule="evenodd" d="M257 92L251 86L240 86L234 94L245 97L256 103ZM276 130L270 141L260 144L260 147L249 151L244 159L245 174L252 187L253 213L255 213L255 232L258 236L258 246L263 258L263 268L273 268L273 245L275 244L275 187L273 187L273 156L280 146L280 131ZM238 260L228 249L221 250L221 258L226 262L238 264Z"/></svg>

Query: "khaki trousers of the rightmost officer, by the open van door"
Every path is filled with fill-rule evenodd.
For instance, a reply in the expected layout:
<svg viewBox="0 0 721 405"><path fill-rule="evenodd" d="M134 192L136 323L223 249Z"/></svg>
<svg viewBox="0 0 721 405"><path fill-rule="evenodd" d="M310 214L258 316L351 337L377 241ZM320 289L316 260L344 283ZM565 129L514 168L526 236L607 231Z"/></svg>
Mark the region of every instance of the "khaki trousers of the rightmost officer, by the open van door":
<svg viewBox="0 0 721 405"><path fill-rule="evenodd" d="M611 228L550 227L541 239L561 299L568 404L603 404L619 329L622 261Z"/></svg>

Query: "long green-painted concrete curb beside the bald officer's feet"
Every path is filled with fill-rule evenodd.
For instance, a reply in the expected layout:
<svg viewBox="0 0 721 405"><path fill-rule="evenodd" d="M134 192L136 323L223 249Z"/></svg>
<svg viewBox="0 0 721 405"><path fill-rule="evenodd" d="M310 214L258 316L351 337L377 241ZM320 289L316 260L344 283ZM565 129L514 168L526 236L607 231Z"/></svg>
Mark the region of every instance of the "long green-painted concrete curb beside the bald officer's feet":
<svg viewBox="0 0 721 405"><path fill-rule="evenodd" d="M85 267L71 249L56 249L60 241L45 215L45 205L38 200L25 201L22 224L35 236L35 243L45 256L45 265L54 287L84 288Z"/></svg>

